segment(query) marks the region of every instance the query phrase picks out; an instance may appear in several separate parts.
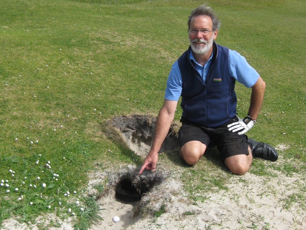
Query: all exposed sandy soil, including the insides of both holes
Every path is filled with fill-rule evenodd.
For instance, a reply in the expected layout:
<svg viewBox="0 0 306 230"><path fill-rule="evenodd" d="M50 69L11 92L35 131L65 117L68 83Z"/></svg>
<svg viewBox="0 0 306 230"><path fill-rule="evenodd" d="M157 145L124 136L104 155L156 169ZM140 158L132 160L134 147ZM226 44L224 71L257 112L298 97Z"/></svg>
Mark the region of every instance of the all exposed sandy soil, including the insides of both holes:
<svg viewBox="0 0 306 230"><path fill-rule="evenodd" d="M154 118L115 117L109 124L118 132L108 130L107 136L127 148L130 146L141 157L146 155L142 152L147 153L151 146ZM174 130L177 129L170 129L161 151L177 149ZM278 160L265 163L284 164L282 155L286 148L277 146ZM179 165L174 170L161 165L155 172L144 171L138 175L139 168L122 166L119 170L91 173L88 195L97 193L93 189L95 185L108 181L106 190L97 199L103 220L92 225L92 229L306 229L306 182L302 173L289 177L271 169L271 174L277 177L264 177L248 172L231 177L226 184L227 191L211 191L205 194L206 199L195 201L188 197L190 194L185 193L180 181L183 170ZM153 213L162 207L164 213L155 218ZM112 221L114 216L120 218L118 223ZM7 220L4 227L27 229L15 224L14 220ZM64 221L62 228L48 229L73 228L69 221Z"/></svg>

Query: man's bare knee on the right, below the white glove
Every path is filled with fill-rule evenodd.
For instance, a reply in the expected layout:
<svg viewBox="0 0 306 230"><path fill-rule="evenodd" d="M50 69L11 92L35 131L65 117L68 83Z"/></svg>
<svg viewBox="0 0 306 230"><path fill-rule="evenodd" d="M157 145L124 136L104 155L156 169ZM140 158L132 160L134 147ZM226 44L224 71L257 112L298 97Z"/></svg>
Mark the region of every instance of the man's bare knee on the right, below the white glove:
<svg viewBox="0 0 306 230"><path fill-rule="evenodd" d="M253 161L253 156L250 147L248 147L248 151L249 155L241 154L226 158L224 161L226 167L228 167L229 170L234 174L245 174L247 171L249 171Z"/></svg>

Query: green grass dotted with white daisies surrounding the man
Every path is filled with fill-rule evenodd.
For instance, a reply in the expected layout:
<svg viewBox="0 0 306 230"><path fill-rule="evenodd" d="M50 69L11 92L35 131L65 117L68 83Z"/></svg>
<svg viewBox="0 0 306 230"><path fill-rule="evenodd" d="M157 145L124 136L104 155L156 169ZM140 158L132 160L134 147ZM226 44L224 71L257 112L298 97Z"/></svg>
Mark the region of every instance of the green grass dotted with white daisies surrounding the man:
<svg viewBox="0 0 306 230"><path fill-rule="evenodd" d="M44 213L73 217L76 229L87 229L96 220L98 207L85 193L87 173L142 163L103 135L104 121L158 114L171 65L188 47L188 15L201 3L2 1L0 224L12 216L35 223ZM267 168L255 160L250 172L304 173L304 1L218 0L210 6L222 22L216 41L244 55L267 84L258 123L248 135L289 147L279 152L285 163ZM241 117L249 95L250 89L237 84ZM175 119L180 116L178 108ZM190 194L226 190L224 184L233 176L213 153L195 167L185 167L182 175ZM301 195L304 191L288 197L288 207Z"/></svg>

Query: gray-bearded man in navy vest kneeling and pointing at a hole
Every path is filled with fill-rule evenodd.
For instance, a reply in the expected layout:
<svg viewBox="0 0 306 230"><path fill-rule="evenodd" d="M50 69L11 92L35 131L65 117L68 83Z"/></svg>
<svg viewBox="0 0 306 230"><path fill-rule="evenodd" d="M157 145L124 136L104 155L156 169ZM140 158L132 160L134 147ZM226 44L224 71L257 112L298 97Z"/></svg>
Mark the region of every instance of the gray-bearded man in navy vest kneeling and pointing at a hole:
<svg viewBox="0 0 306 230"><path fill-rule="evenodd" d="M204 4L192 10L188 20L190 46L172 65L153 144L139 174L144 169L155 171L157 153L174 119L180 96L183 114L179 146L187 164L196 164L211 142L217 146L226 167L235 174L245 174L253 157L277 160L271 145L244 134L256 123L266 85L243 56L215 42L220 25L211 7ZM252 88L248 114L243 119L236 115L236 80Z"/></svg>

